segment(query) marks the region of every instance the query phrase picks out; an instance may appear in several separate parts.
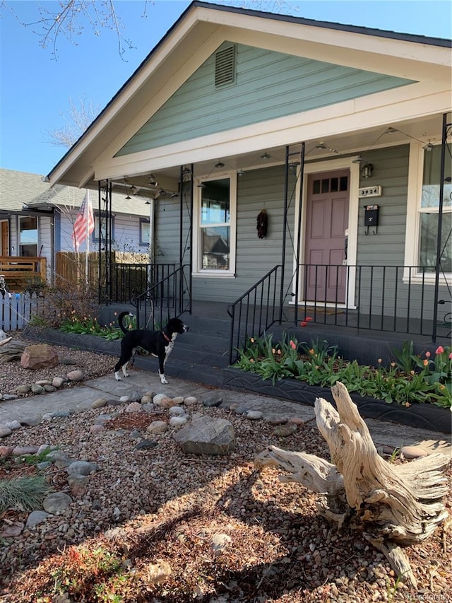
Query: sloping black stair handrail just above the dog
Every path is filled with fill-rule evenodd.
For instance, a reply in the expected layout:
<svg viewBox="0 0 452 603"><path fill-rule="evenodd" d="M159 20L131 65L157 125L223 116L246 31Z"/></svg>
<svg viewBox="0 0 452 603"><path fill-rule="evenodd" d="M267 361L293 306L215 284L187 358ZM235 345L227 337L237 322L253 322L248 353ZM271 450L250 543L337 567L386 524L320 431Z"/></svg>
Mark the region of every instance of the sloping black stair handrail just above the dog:
<svg viewBox="0 0 452 603"><path fill-rule="evenodd" d="M160 266L169 264L160 264ZM157 266L157 264L155 264ZM165 274L166 268L164 270ZM157 273L156 273L157 274ZM157 329L169 318L191 312L191 272L189 264L173 270L132 299L137 329Z"/></svg>

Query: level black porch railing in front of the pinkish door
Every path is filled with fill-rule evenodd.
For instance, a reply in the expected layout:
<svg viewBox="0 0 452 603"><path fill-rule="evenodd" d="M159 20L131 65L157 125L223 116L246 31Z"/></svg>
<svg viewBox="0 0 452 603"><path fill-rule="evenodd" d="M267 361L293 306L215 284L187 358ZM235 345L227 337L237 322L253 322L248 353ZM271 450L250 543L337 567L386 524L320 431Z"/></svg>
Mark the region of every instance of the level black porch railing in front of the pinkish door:
<svg viewBox="0 0 452 603"><path fill-rule="evenodd" d="M309 315L339 327L425 335L432 341L436 334L446 336L441 329L448 327L451 283L445 279L441 286L435 322L431 267L300 264L299 271L304 301L295 310L295 323Z"/></svg>

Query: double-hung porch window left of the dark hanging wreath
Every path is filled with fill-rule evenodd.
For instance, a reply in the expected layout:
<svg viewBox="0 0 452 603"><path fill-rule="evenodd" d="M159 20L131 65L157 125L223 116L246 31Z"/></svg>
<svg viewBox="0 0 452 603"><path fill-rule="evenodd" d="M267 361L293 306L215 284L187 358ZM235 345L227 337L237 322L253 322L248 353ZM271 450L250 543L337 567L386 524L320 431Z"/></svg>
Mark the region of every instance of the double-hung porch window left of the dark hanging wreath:
<svg viewBox="0 0 452 603"><path fill-rule="evenodd" d="M198 238L195 273L231 276L235 270L235 179L227 175L196 187Z"/></svg>

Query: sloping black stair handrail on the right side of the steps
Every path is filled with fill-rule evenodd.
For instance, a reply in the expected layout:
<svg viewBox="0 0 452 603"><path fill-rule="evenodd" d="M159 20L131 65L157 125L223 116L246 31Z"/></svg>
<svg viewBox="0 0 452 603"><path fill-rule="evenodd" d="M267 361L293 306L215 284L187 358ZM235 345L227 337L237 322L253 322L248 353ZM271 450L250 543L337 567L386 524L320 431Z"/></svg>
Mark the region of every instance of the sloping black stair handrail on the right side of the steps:
<svg viewBox="0 0 452 603"><path fill-rule="evenodd" d="M227 313L231 317L229 363L238 358L237 349L251 336L259 337L280 321L280 286L282 266L278 264L235 300Z"/></svg>

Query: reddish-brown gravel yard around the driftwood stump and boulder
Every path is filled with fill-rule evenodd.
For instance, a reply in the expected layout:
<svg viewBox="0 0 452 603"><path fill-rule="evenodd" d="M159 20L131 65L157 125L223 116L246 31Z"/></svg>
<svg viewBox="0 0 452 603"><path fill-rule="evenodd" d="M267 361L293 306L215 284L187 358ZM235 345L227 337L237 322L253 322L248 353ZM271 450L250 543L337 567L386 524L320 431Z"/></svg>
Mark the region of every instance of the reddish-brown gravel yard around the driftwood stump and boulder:
<svg viewBox="0 0 452 603"><path fill-rule="evenodd" d="M59 357L75 361L71 368L87 377L110 373L114 365L111 356L64 348ZM61 376L65 366L50 372ZM24 371L17 362L0 365L0 392L26 382ZM44 370L38 378L48 377ZM96 462L99 470L85 486L74 487L64 467L42 469L52 490L72 502L61 515L0 537L1 603L451 600L450 522L408 549L419 589L413 591L396 581L359 525L337 532L317 513L316 495L281 483L278 469L254 468L254 457L270 444L329 459L314 422L281 438L270 423L231 410L198 404L189 412L231 421L234 452L186 455L174 441L175 428L153 434L155 445L139 450L137 443L150 437L148 425L168 422L169 411L126 412L125 404L54 418L2 438L6 447L51 445L72 459ZM106 414L105 429L92 430ZM0 479L36 472L21 458L0 457ZM449 513L451 500L449 494ZM24 526L27 517L6 510L0 529ZM64 592L69 596L57 599Z"/></svg>

